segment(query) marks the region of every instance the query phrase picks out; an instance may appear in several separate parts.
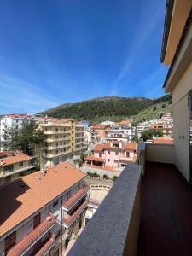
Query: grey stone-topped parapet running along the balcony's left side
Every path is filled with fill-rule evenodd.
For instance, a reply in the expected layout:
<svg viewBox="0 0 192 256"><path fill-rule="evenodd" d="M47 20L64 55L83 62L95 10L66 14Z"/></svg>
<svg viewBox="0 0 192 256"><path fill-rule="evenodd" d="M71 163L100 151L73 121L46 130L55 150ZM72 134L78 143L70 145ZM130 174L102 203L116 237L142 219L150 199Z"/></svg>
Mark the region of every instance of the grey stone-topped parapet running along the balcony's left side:
<svg viewBox="0 0 192 256"><path fill-rule="evenodd" d="M69 256L136 255L142 166L125 166Z"/></svg>

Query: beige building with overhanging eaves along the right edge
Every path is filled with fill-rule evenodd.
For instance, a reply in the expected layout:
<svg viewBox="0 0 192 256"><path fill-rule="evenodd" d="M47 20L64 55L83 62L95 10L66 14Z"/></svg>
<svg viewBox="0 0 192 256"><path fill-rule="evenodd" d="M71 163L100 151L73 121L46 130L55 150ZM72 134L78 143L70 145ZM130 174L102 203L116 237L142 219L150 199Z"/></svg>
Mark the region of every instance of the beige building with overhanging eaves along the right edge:
<svg viewBox="0 0 192 256"><path fill-rule="evenodd" d="M192 1L169 1L166 9L161 61L171 65L164 88L172 94L174 159L183 176L192 183Z"/></svg>

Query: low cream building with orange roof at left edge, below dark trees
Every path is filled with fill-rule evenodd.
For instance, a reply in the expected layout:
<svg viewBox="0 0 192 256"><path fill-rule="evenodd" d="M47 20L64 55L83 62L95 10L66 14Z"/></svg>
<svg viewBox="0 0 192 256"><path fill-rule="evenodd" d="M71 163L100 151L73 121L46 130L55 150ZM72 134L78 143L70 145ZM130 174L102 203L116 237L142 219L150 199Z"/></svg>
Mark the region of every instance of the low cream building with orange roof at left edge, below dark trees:
<svg viewBox="0 0 192 256"><path fill-rule="evenodd" d="M0 152L0 185L35 172L35 159L18 150Z"/></svg>

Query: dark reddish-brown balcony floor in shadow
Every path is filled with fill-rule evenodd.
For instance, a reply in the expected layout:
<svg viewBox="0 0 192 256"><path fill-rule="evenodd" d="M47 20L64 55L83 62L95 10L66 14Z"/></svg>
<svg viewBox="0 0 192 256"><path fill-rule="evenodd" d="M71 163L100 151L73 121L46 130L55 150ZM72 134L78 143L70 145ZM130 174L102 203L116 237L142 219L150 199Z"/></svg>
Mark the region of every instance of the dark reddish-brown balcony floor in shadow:
<svg viewBox="0 0 192 256"><path fill-rule="evenodd" d="M146 163L137 256L192 255L192 194L173 165Z"/></svg>

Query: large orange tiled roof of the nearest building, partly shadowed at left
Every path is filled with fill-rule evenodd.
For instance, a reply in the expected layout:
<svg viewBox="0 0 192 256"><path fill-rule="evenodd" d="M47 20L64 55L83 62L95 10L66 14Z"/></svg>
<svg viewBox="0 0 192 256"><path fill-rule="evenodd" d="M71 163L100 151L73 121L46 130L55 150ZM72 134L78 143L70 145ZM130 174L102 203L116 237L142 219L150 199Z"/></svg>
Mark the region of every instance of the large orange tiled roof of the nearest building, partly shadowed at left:
<svg viewBox="0 0 192 256"><path fill-rule="evenodd" d="M0 237L86 177L69 163L34 172L0 187Z"/></svg>

